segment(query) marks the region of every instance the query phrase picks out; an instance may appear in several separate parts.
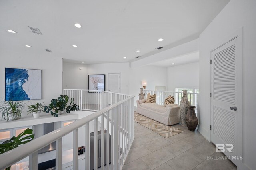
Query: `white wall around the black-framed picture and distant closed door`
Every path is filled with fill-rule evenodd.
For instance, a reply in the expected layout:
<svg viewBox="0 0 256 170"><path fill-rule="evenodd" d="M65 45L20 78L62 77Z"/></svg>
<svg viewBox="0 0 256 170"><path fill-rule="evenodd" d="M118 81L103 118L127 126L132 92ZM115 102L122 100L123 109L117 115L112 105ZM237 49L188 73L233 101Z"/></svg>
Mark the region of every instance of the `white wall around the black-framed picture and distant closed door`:
<svg viewBox="0 0 256 170"><path fill-rule="evenodd" d="M90 64L87 68L88 74L106 75L106 91L108 91L108 74L121 73L121 93L129 94L129 63Z"/></svg>

